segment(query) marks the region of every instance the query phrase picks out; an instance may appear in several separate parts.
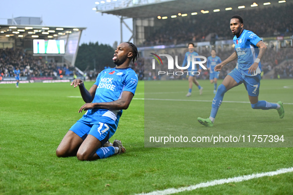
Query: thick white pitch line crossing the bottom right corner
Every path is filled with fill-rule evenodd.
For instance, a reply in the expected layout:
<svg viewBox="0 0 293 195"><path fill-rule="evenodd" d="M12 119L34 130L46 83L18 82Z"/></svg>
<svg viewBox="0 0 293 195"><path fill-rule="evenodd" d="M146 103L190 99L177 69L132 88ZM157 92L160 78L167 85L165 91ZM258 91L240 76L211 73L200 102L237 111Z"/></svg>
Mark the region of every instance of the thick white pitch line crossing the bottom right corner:
<svg viewBox="0 0 293 195"><path fill-rule="evenodd" d="M243 175L243 176L234 177L234 178L203 182L203 183L199 183L199 184L196 184L193 186L182 187L182 188L177 188L177 189L176 188L169 188L166 190L154 191L154 192L146 193L146 194L142 193L142 194L137 194L137 195L171 195L171 194L180 193L180 192L184 192L184 191L196 190L198 188L207 188L210 186L216 186L216 185L221 185L221 184L242 182L242 181L252 180L252 179L256 179L256 178L261 178L261 177L266 177L266 176L274 176L274 175L279 175L279 174L283 174L283 173L290 173L290 172L293 172L293 167L283 168L283 169L279 169L277 171L256 173L256 174Z"/></svg>

